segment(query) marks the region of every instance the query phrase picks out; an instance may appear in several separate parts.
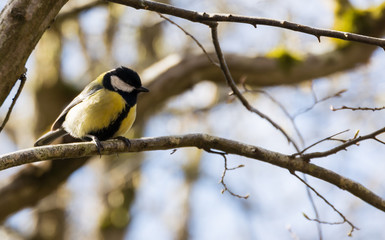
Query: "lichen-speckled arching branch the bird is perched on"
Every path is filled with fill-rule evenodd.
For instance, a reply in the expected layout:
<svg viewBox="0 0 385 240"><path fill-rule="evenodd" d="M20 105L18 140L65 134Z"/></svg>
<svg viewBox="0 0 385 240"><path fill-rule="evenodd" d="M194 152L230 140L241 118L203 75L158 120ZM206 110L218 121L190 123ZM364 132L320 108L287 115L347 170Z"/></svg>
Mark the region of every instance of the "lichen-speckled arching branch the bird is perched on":
<svg viewBox="0 0 385 240"><path fill-rule="evenodd" d="M181 136L132 139L130 149L128 149L123 142L117 140L103 142L103 146L104 149L102 150L102 154L165 150L182 147L197 147L207 151L223 151L229 154L236 154L264 161L289 169L290 171L300 171L309 174L341 189L347 190L368 204L385 211L384 199L351 179L345 178L328 169L307 163L301 158L291 158L288 155L229 139L214 137L207 134L188 134ZM97 148L93 143L74 143L31 148L0 156L0 169L43 160L77 158L97 154ZM0 205L4 206L3 204L4 203L0 198Z"/></svg>

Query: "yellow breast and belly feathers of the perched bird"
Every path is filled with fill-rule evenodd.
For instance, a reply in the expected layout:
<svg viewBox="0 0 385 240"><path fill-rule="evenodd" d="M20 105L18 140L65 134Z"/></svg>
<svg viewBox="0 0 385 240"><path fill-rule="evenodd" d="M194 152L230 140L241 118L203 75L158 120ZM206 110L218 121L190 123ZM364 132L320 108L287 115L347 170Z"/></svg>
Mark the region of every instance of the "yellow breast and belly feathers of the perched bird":
<svg viewBox="0 0 385 240"><path fill-rule="evenodd" d="M125 110L127 115L121 116ZM102 89L74 106L63 127L77 138L98 131L108 131L103 133L108 137L121 136L131 128L135 116L136 106L126 109L126 101L118 93Z"/></svg>

